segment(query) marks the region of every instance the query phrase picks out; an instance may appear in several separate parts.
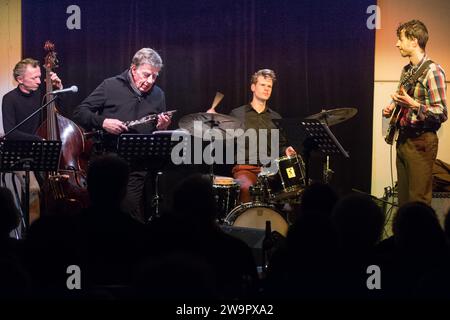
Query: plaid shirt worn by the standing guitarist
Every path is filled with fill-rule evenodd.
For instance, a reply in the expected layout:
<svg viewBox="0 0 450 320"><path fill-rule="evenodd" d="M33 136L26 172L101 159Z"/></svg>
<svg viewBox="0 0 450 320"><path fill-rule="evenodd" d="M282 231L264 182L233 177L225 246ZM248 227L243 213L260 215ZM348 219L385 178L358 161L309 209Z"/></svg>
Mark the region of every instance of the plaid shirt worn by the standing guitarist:
<svg viewBox="0 0 450 320"><path fill-rule="evenodd" d="M407 74L414 73L426 60L428 60L427 56L423 57L417 66L407 64L402 70L401 79ZM446 90L444 70L440 65L431 63L417 79L414 87L408 90L408 94L420 103L420 107L418 109L403 108L400 126L439 129L441 123L447 120Z"/></svg>

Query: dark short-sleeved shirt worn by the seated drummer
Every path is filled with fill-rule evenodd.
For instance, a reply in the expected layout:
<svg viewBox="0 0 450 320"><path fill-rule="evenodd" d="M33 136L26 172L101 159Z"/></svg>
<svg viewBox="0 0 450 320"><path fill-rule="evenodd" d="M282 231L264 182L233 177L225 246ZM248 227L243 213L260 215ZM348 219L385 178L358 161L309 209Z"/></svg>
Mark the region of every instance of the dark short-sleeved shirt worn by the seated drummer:
<svg viewBox="0 0 450 320"><path fill-rule="evenodd" d="M245 145L239 144L237 147L238 154L242 152L245 152L245 163L246 164L253 164L253 165L261 165L263 159L260 159L261 155L266 155L266 157L269 158L278 158L281 156L287 147L287 141L285 137L279 133L279 139L278 141L275 141L278 143L278 154L272 155L272 147L271 147L271 138L272 138L272 132L271 129L278 129L275 123L272 121L274 119L281 119L281 116L273 111L272 109L266 107L264 111L261 113L258 113L250 104L241 106L239 108L233 109L230 113L230 116L235 117L239 120L241 120L245 125L245 130L248 132L248 129L255 129L256 130L256 146L249 142L251 142L251 138L246 137L246 143ZM260 129L267 129L267 133L265 134L265 131L260 131ZM263 152L263 150L259 150L259 141L262 135L265 135L266 141L267 141L267 152ZM249 135L250 136L250 135ZM239 138L238 138L239 140ZM254 142L254 141L253 141ZM275 151L275 150L274 150ZM238 157L238 163L239 157ZM263 163L267 164L267 163Z"/></svg>

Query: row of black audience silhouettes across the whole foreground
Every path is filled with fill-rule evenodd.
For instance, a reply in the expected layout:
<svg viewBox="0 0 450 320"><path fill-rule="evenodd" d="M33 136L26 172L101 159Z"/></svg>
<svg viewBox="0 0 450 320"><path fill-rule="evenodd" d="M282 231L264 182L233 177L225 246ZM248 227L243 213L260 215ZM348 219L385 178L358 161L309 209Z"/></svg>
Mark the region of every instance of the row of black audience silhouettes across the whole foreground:
<svg viewBox="0 0 450 320"><path fill-rule="evenodd" d="M265 298L450 298L450 217L445 230L426 204L399 208L393 236L380 241L385 217L373 198L341 199L330 185L308 186L286 239L258 275L251 249L223 231L210 176L174 186L172 208L143 225L122 211L128 164L96 158L88 171L90 207L77 215L42 215L25 240L11 192L0 188L0 296L144 298L217 301ZM169 201L170 202L170 201ZM81 269L82 290L67 287ZM381 287L369 288L369 266Z"/></svg>

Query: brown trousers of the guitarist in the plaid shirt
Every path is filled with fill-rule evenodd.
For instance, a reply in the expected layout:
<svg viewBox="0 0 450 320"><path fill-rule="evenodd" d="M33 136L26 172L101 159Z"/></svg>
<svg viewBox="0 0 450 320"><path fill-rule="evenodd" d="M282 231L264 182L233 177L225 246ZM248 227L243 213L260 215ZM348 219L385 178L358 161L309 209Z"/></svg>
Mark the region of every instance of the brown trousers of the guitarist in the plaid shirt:
<svg viewBox="0 0 450 320"><path fill-rule="evenodd" d="M438 151L438 137L425 132L417 138L397 142L398 203L421 201L431 205L433 164Z"/></svg>

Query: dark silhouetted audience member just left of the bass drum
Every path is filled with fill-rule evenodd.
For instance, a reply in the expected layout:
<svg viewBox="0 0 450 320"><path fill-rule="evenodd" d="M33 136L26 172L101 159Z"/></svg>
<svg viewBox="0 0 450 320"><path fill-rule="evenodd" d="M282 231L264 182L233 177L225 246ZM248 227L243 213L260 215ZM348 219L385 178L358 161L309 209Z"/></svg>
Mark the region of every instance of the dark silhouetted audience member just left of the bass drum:
<svg viewBox="0 0 450 320"><path fill-rule="evenodd" d="M182 266L190 268L201 264L203 268L210 268L217 298L251 297L256 293L258 280L252 252L243 241L220 229L216 222L217 213L210 177L191 175L176 187L173 210L151 226L147 243L153 244L154 257L165 263L171 261L168 255L173 258L175 254L180 258L183 253L186 259L193 259ZM170 276L167 274L169 269L159 270L164 276ZM189 292L188 289L183 292ZM209 293L209 288L205 289L208 290L204 293ZM196 289L192 287L191 290Z"/></svg>

